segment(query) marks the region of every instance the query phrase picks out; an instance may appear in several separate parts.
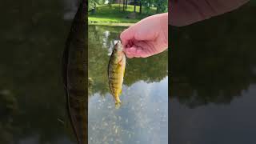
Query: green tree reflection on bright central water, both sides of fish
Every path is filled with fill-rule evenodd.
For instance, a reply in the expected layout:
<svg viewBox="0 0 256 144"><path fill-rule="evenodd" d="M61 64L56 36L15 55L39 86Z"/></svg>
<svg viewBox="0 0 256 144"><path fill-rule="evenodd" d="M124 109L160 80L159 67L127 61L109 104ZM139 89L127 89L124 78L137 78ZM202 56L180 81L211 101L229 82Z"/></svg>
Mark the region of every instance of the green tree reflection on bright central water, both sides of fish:
<svg viewBox="0 0 256 144"><path fill-rule="evenodd" d="M118 34L124 29L113 26L89 26L89 77L92 79L90 86L94 87L90 95L95 93L104 95L109 92L106 75L110 58L108 54L112 51L114 40L118 40ZM141 80L160 82L168 74L167 59L167 51L150 58L128 59L124 85L131 86Z"/></svg>

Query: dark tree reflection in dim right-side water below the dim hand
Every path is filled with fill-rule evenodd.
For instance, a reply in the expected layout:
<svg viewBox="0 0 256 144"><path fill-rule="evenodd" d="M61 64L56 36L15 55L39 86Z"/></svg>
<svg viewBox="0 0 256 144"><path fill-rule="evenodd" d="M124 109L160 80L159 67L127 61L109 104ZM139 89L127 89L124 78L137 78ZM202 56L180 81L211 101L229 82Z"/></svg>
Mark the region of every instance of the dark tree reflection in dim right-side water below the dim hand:
<svg viewBox="0 0 256 144"><path fill-rule="evenodd" d="M231 14L181 28L170 26L170 97L190 108L229 104L256 82L256 14Z"/></svg>

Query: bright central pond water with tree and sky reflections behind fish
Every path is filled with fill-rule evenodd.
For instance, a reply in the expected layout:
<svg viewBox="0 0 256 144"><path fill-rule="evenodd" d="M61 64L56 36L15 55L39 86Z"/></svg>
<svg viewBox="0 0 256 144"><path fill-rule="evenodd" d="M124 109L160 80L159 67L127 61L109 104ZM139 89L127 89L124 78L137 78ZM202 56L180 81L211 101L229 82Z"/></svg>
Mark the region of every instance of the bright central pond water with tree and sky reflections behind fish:
<svg viewBox="0 0 256 144"><path fill-rule="evenodd" d="M107 81L110 52L123 27L89 26L89 143L167 143L167 52L128 60L122 106Z"/></svg>

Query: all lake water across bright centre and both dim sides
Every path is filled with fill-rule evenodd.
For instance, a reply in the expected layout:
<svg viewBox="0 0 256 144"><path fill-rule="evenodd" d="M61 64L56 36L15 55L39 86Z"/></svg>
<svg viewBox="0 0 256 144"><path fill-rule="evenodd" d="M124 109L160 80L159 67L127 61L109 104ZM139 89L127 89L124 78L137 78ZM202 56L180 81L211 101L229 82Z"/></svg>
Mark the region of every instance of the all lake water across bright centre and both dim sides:
<svg viewBox="0 0 256 144"><path fill-rule="evenodd" d="M256 143L253 2L170 28L169 142ZM66 119L61 59L76 2L2 0L0 10L0 143L75 144L58 119ZM123 29L90 27L89 142L166 143L166 53L128 60L123 104L114 109L104 75Z"/></svg>

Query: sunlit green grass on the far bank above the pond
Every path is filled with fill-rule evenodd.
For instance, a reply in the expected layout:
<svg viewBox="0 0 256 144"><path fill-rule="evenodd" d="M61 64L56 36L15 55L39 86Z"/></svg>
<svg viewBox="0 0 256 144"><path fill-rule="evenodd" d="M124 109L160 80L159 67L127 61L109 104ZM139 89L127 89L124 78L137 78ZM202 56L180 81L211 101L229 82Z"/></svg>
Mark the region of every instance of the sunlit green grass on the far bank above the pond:
<svg viewBox="0 0 256 144"><path fill-rule="evenodd" d="M146 10L142 7L142 14L139 14L139 6L136 6L136 18L126 18L126 16L134 11L134 6L128 5L126 11L122 11L122 5L112 4L98 5L95 14L89 14L89 24L101 23L135 23L146 18L149 15L155 14L156 9L151 8L148 14L144 14ZM143 13L144 12L144 13Z"/></svg>

